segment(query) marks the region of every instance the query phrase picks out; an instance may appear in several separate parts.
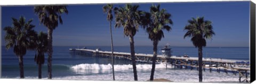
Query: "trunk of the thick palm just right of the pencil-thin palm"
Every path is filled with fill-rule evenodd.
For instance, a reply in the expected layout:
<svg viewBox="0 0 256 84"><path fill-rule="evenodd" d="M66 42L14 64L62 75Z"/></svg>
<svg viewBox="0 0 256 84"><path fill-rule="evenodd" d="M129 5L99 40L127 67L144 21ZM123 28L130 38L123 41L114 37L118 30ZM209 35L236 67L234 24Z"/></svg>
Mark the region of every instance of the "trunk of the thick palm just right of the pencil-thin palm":
<svg viewBox="0 0 256 84"><path fill-rule="evenodd" d="M132 57L133 76L134 76L134 80L138 81L137 70L136 70L136 61L135 61L133 36L130 35L129 39L130 39L130 49L131 49L131 57Z"/></svg>

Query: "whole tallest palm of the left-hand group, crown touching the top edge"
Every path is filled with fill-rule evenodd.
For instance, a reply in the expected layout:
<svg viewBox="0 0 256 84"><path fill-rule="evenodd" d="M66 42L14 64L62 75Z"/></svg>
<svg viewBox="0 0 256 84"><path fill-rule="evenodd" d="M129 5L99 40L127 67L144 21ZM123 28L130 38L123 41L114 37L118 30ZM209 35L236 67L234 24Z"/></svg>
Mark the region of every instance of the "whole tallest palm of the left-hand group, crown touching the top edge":
<svg viewBox="0 0 256 84"><path fill-rule="evenodd" d="M52 32L53 30L58 27L58 24L62 24L61 14L66 13L68 14L67 7L65 5L44 5L44 6L35 6L34 7L35 13L39 17L39 21L44 24L44 26L48 29L48 59L47 59L47 66L48 66L48 79L52 79Z"/></svg>

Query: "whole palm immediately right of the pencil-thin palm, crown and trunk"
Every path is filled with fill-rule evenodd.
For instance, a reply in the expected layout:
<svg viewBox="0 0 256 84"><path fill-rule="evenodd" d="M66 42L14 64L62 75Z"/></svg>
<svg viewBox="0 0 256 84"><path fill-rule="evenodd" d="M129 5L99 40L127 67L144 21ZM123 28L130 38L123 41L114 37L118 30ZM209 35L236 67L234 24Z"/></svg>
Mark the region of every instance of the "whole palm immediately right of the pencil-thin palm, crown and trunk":
<svg viewBox="0 0 256 84"><path fill-rule="evenodd" d="M130 49L131 49L131 59L133 66L133 76L134 80L138 81L135 52L134 52L134 40L136 32L140 26L140 16L143 14L142 11L138 10L139 5L126 4L125 7L115 7L115 28L124 28L124 35L129 36L130 39Z"/></svg>

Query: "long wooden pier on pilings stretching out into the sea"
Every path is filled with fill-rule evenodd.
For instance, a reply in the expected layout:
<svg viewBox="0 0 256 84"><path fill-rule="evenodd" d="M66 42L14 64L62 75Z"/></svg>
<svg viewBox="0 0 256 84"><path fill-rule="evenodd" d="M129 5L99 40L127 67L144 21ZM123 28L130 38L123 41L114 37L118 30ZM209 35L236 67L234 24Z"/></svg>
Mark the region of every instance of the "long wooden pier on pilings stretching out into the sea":
<svg viewBox="0 0 256 84"><path fill-rule="evenodd" d="M97 57L111 57L111 52L108 51L101 51L100 49L69 49L73 54L76 55L85 55L85 56L97 56ZM137 62L145 62L151 63L151 58L153 54L141 54L135 53L136 61ZM125 59L131 60L130 53L124 52L114 52L114 58L118 59ZM183 56L165 56L165 55L157 55L157 63L166 62L166 69L167 64L172 64L174 68L184 68L193 70L196 68L198 70L198 57L183 57ZM222 70L223 72L233 73L236 75L239 73L239 82L250 82L248 80L248 71L250 71L250 63L249 61L243 60L229 60L229 59L221 59L221 58L203 58L203 71L205 69L209 69L210 72L216 70L220 73ZM244 78L244 80L242 80Z"/></svg>

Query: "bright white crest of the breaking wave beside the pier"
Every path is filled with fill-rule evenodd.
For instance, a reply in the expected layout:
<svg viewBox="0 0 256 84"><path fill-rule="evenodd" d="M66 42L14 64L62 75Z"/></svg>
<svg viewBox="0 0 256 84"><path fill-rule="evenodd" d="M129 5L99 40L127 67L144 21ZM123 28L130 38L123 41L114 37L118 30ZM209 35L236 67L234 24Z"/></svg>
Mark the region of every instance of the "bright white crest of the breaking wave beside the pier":
<svg viewBox="0 0 256 84"><path fill-rule="evenodd" d="M136 65L138 71L143 70L151 70L152 64L138 64ZM165 69L166 64L156 64L155 69ZM167 64L167 68L170 69L172 66ZM78 64L71 66L70 69L75 72L76 74L91 74L91 73L111 73L112 66L111 64ZM131 64L123 64L123 65L114 65L115 71L132 71Z"/></svg>

